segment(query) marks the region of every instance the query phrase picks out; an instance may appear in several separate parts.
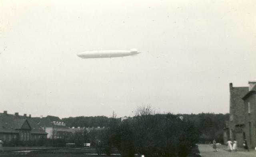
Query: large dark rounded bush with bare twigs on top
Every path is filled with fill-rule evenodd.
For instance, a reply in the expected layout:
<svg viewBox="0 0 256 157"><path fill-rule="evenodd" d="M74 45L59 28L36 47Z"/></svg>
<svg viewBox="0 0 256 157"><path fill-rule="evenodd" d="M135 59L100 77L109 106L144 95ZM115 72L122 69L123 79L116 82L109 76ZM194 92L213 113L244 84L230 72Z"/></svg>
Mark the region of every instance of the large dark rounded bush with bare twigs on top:
<svg viewBox="0 0 256 157"><path fill-rule="evenodd" d="M173 114L155 114L148 107L139 108L136 116L121 123L113 118L109 131L110 143L122 157L134 157L134 153L146 157L184 157L200 135L192 122Z"/></svg>

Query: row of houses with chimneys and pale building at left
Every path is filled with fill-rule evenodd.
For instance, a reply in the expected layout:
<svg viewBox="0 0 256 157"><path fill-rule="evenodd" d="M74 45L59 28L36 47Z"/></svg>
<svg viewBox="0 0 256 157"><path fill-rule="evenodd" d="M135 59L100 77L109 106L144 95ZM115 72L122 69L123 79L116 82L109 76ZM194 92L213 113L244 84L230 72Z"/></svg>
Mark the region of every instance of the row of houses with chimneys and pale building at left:
<svg viewBox="0 0 256 157"><path fill-rule="evenodd" d="M69 138L76 132L90 132L92 130L104 130L105 127L68 127L59 117L31 117L8 114L7 111L0 113L0 140L2 141L29 141L42 138Z"/></svg>

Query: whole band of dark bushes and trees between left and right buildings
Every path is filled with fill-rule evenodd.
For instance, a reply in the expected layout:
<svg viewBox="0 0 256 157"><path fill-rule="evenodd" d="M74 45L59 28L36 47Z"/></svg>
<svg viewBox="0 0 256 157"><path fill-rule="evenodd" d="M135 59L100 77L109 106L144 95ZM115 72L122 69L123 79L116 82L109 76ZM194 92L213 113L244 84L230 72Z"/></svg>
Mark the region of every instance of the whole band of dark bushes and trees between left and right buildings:
<svg viewBox="0 0 256 157"><path fill-rule="evenodd" d="M147 157L187 156L196 143L223 142L223 128L229 114L157 113L151 106L140 106L135 115L121 122L113 112L105 116L70 117L62 119L67 126L96 127L105 130L76 133L74 142L81 145L90 139L98 154L110 155L118 150L122 157L134 154Z"/></svg>

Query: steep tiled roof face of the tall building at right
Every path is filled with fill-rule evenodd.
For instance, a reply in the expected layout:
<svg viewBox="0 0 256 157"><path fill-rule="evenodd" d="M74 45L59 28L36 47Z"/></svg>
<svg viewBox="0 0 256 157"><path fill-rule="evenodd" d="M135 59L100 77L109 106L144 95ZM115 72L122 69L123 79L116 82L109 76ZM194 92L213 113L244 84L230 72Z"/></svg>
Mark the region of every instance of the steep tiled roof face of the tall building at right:
<svg viewBox="0 0 256 157"><path fill-rule="evenodd" d="M248 87L230 88L230 114L233 115L235 125L244 124L244 101L242 97L248 90Z"/></svg>

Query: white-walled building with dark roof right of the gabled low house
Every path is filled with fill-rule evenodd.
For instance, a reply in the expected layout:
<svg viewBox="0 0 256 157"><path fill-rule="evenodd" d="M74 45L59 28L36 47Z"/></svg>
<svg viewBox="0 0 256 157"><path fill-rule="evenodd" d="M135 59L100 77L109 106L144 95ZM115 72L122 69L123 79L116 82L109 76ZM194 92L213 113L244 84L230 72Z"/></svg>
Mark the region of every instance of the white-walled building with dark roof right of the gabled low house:
<svg viewBox="0 0 256 157"><path fill-rule="evenodd" d="M61 122L59 117L56 116L46 116L46 117L34 117L32 118L37 122L41 128L46 131L47 138L69 138L70 128L66 127L64 122Z"/></svg>

